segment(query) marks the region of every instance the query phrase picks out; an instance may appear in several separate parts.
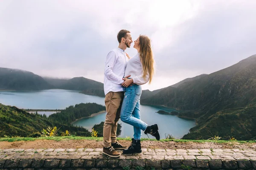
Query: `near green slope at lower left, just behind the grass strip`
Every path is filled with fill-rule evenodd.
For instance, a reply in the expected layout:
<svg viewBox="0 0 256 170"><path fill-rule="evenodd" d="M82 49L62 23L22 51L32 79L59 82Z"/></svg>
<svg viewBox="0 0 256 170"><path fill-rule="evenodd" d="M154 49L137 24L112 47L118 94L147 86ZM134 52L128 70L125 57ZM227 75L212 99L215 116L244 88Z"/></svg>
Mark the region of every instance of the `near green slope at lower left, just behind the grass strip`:
<svg viewBox="0 0 256 170"><path fill-rule="evenodd" d="M48 126L61 127L59 133L69 130L71 134L90 136L90 132L82 127L73 127L49 120L45 115L31 114L14 106L0 104L0 137L4 136L32 136L41 133Z"/></svg>

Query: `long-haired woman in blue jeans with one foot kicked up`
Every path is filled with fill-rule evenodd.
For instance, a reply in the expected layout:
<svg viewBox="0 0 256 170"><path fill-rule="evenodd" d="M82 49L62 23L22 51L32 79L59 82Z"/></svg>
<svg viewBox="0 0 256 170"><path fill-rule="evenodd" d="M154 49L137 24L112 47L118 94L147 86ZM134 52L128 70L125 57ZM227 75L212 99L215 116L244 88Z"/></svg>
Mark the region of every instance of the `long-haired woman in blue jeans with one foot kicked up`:
<svg viewBox="0 0 256 170"><path fill-rule="evenodd" d="M131 75L129 78L124 78L122 86L125 91L125 97L122 102L121 120L134 126L134 138L130 147L123 150L123 153L141 153L140 137L141 130L145 134L149 133L160 139L157 124L148 126L140 120L140 96L142 93L141 85L151 83L154 74L154 58L151 49L151 41L145 35L134 41L134 48L138 53L129 59L125 76ZM131 85L132 84L132 85Z"/></svg>

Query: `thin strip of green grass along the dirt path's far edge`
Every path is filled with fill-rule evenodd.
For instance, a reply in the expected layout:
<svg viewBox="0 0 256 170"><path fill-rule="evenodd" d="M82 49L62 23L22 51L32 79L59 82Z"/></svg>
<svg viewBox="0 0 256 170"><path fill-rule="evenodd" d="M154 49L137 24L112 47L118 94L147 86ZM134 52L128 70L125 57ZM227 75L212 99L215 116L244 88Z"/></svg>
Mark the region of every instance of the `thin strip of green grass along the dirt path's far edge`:
<svg viewBox="0 0 256 170"><path fill-rule="evenodd" d="M0 138L0 142L15 142L15 141L35 141L35 140L54 140L54 141L65 141L65 140L96 140L103 141L103 137L84 137L84 136L55 136L55 137L39 137L39 138L31 138L31 137L16 137L16 138ZM127 140L131 141L130 138L117 138L117 140ZM157 141L156 139L147 139L143 138L141 141ZM225 141L225 140L186 140L186 139L161 139L160 142L214 142L214 143L230 143L230 142L238 142L238 143L256 143L256 140L253 141Z"/></svg>

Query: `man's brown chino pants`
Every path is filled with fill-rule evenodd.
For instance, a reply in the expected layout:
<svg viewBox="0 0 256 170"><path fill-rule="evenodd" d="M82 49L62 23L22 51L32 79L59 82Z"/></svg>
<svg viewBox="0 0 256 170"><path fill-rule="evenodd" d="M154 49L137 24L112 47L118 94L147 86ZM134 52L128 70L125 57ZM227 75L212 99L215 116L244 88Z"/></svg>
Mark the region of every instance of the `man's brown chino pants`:
<svg viewBox="0 0 256 170"><path fill-rule="evenodd" d="M103 126L103 146L110 147L111 143L116 143L117 122L120 119L120 112L124 92L110 91L105 96L106 119Z"/></svg>

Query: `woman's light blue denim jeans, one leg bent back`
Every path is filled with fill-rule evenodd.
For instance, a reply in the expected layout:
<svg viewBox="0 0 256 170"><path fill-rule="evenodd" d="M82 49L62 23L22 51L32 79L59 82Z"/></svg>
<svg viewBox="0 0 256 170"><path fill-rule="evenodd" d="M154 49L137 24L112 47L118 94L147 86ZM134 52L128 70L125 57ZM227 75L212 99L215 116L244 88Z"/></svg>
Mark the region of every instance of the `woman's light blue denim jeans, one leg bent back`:
<svg viewBox="0 0 256 170"><path fill-rule="evenodd" d="M134 127L134 139L140 140L141 130L146 130L148 125L140 120L140 96L142 88L140 85L123 87L125 97L122 102L120 118L123 122Z"/></svg>

